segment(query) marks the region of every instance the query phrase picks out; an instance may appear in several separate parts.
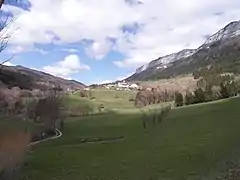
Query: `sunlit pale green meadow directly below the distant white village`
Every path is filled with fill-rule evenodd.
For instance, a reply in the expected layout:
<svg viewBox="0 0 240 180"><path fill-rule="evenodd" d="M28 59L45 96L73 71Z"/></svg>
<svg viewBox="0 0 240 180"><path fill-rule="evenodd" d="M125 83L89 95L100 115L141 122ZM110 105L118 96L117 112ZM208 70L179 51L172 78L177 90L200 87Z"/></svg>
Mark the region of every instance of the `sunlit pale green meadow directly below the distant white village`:
<svg viewBox="0 0 240 180"><path fill-rule="evenodd" d="M107 109L129 109L134 108L134 101L129 101L130 98L135 98L136 91L116 91L108 89L92 89L90 98L82 98L95 105L104 104ZM79 93L75 96L80 97Z"/></svg>

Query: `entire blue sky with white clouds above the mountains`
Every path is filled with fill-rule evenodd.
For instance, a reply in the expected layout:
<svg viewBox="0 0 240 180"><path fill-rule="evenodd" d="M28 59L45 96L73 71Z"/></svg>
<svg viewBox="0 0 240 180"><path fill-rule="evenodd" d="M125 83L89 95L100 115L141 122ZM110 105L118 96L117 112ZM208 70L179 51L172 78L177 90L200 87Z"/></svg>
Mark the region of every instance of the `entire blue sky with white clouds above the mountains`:
<svg viewBox="0 0 240 180"><path fill-rule="evenodd" d="M126 78L240 19L239 0L15 1L0 15L12 18L1 60L85 84Z"/></svg>

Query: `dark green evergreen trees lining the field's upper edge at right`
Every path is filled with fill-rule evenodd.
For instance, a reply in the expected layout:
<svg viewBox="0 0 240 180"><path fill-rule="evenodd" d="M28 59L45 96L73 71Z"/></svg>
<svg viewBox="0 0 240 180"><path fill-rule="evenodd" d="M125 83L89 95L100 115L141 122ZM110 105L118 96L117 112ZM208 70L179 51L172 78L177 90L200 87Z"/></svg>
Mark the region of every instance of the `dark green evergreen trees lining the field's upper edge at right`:
<svg viewBox="0 0 240 180"><path fill-rule="evenodd" d="M220 67L206 67L193 73L198 79L197 89L186 94L175 93L175 105L197 104L237 96L240 93L240 82L234 74L224 73Z"/></svg>

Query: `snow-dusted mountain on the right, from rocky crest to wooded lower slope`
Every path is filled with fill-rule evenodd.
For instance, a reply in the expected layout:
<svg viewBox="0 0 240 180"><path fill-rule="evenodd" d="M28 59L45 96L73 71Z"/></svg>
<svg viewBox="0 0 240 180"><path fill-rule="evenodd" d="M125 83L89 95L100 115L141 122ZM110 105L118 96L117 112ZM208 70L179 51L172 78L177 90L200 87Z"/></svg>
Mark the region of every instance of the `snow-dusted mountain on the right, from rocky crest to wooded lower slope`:
<svg viewBox="0 0 240 180"><path fill-rule="evenodd" d="M159 79L192 73L194 70L213 64L226 69L239 67L240 21L234 21L207 39L197 49L182 50L160 57L138 68L127 81ZM240 68L239 68L240 72Z"/></svg>

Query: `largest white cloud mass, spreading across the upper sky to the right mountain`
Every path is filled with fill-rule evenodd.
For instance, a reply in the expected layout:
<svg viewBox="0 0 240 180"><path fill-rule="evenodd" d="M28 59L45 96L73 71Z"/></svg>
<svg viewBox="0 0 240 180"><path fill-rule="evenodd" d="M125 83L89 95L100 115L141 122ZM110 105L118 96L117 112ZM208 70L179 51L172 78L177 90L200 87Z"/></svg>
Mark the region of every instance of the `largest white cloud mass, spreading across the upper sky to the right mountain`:
<svg viewBox="0 0 240 180"><path fill-rule="evenodd" d="M91 40L92 46L85 47L90 57L101 59L115 50L126 57L116 65L134 68L183 48L196 48L206 35L240 17L239 0L141 2L129 5L124 0L30 0L30 11L22 12L12 26L19 29L10 43ZM18 9L8 11L19 14ZM123 26L134 23L143 25L138 33L122 31ZM116 40L114 46L109 44L109 37Z"/></svg>

